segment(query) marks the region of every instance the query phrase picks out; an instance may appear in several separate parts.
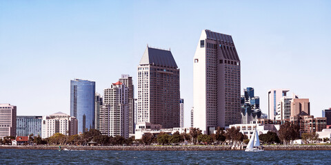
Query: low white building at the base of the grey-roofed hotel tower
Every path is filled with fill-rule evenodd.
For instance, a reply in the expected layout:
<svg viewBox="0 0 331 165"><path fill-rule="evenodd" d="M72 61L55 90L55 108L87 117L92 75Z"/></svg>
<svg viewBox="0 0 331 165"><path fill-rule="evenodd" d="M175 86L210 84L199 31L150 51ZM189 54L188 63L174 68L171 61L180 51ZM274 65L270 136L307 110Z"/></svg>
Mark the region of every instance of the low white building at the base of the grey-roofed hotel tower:
<svg viewBox="0 0 331 165"><path fill-rule="evenodd" d="M152 133L155 137L159 135L161 132L162 133L168 133L170 135L176 133L177 131L179 133L183 133L187 131L187 133L190 132L190 128L172 128L172 129L163 129L160 124L152 124L150 122L138 122L136 125L136 131L134 133L134 138L135 139L141 139L143 135L146 133Z"/></svg>

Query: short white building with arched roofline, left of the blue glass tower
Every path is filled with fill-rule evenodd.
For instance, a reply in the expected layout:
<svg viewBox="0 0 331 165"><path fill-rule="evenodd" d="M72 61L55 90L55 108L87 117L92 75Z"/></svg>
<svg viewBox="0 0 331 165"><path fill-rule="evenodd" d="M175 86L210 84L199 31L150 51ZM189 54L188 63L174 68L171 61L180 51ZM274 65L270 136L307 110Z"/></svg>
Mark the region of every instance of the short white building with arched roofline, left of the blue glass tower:
<svg viewBox="0 0 331 165"><path fill-rule="evenodd" d="M41 138L45 139L54 133L76 135L77 124L77 119L66 113L57 112L49 116L45 115L41 123Z"/></svg>

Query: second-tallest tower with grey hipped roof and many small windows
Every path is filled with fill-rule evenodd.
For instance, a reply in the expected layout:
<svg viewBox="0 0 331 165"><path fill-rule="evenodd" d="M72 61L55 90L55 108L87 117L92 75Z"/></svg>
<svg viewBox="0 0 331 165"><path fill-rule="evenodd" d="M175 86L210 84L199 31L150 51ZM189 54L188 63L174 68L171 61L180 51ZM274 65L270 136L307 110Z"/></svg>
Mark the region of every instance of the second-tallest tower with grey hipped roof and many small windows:
<svg viewBox="0 0 331 165"><path fill-rule="evenodd" d="M179 127L179 68L168 50L147 47L138 66L138 122Z"/></svg>

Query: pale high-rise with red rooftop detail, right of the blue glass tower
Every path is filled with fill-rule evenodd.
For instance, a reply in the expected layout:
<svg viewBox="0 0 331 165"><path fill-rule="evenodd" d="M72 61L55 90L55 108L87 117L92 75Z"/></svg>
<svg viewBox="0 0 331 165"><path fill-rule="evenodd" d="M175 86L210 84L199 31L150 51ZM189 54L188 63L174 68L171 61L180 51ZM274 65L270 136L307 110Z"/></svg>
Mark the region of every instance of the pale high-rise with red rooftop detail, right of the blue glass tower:
<svg viewBox="0 0 331 165"><path fill-rule="evenodd" d="M103 90L103 105L100 108L100 132L103 135L129 137L128 91L121 82L112 83Z"/></svg>

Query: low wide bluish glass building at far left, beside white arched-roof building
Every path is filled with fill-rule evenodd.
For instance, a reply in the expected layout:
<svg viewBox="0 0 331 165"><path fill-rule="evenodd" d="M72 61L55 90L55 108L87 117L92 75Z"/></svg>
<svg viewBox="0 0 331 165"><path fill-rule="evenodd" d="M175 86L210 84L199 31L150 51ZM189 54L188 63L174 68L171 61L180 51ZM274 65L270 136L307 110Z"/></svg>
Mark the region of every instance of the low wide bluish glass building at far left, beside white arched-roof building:
<svg viewBox="0 0 331 165"><path fill-rule="evenodd" d="M43 120L43 116L17 115L16 135L28 136L33 134L34 136L41 136L41 120Z"/></svg>

